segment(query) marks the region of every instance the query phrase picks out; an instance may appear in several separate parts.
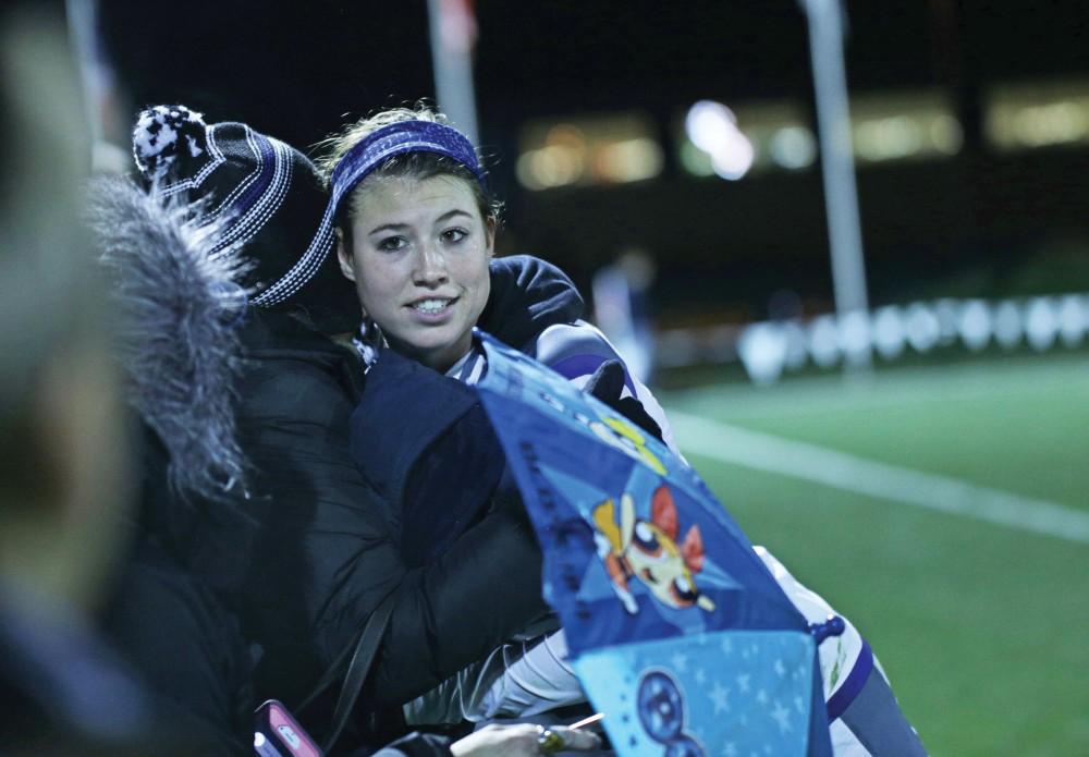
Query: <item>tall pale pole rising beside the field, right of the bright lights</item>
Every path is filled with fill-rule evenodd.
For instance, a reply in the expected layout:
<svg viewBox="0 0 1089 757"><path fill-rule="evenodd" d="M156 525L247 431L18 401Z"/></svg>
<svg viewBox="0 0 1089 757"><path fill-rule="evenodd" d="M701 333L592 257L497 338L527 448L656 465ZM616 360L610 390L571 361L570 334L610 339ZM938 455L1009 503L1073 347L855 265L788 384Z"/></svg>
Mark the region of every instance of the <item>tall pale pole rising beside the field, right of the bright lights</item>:
<svg viewBox="0 0 1089 757"><path fill-rule="evenodd" d="M817 96L821 175L832 252L832 285L841 325L869 309L858 191L851 149L851 113L843 56L843 9L840 0L799 0L809 20L809 56ZM869 365L866 347L846 351L848 366Z"/></svg>

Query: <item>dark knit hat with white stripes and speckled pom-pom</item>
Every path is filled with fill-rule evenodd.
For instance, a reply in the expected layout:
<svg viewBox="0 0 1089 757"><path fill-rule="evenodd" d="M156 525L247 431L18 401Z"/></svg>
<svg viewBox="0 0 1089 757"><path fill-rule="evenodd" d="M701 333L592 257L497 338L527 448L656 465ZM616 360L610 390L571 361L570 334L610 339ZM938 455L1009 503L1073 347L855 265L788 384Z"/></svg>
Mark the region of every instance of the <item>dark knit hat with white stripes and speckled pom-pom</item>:
<svg viewBox="0 0 1089 757"><path fill-rule="evenodd" d="M208 254L245 246L255 307L293 310L325 333L351 331L358 304L338 272L327 195L310 160L244 123L206 124L184 106L143 111L133 157L158 196L201 198L200 223L221 221Z"/></svg>

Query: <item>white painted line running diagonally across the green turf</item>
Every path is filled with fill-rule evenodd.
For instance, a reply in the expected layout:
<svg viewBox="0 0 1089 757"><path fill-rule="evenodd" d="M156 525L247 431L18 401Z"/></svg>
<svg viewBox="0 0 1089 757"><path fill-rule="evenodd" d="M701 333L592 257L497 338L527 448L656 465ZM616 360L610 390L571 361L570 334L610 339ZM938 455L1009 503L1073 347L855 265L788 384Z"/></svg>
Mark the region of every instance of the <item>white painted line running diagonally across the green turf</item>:
<svg viewBox="0 0 1089 757"><path fill-rule="evenodd" d="M870 497L1089 544L1089 513L671 411L686 452Z"/></svg>

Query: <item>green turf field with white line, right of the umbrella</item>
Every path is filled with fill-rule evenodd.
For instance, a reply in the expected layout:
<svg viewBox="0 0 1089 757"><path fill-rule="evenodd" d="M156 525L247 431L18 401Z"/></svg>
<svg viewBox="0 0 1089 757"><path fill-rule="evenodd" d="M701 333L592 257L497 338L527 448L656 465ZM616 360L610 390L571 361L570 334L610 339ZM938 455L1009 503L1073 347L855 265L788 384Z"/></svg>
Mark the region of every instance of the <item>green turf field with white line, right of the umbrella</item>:
<svg viewBox="0 0 1089 757"><path fill-rule="evenodd" d="M869 639L931 754L1089 755L1089 355L659 396L751 540ZM720 454L707 422L805 443ZM815 480L821 450L846 453L831 465L845 484ZM859 481L891 472L889 496L851 486L852 461ZM905 503L934 481L981 517Z"/></svg>

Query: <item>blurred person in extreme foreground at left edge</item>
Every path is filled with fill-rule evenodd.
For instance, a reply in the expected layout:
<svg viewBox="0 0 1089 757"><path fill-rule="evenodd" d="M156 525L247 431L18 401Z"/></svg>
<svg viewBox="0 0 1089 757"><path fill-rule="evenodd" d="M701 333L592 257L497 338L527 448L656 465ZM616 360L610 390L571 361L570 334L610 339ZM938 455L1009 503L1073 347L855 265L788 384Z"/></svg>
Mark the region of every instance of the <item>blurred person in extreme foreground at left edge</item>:
<svg viewBox="0 0 1089 757"><path fill-rule="evenodd" d="M60 14L0 13L0 753L184 754L96 631L130 502L89 144Z"/></svg>

